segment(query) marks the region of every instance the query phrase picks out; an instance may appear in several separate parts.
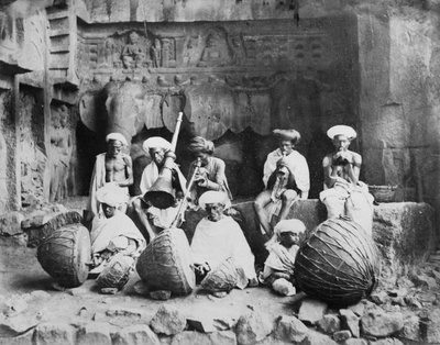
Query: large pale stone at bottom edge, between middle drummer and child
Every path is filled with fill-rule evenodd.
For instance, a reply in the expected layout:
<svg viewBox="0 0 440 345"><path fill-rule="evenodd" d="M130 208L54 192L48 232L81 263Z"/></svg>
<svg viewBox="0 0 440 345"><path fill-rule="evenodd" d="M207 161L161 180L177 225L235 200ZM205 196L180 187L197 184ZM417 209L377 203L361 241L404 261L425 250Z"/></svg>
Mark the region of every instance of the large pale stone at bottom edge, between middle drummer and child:
<svg viewBox="0 0 440 345"><path fill-rule="evenodd" d="M235 325L239 344L249 345L262 341L272 333L273 321L264 313L251 312L240 316Z"/></svg>

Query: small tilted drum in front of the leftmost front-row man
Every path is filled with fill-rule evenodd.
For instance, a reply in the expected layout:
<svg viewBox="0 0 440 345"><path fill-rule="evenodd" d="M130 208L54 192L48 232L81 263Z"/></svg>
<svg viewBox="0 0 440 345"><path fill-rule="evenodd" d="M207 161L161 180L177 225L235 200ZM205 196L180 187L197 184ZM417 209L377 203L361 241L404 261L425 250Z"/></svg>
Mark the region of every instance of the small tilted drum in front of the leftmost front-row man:
<svg viewBox="0 0 440 345"><path fill-rule="evenodd" d="M96 282L99 288L117 288L121 290L129 281L134 259L131 256L117 254L107 264Z"/></svg>

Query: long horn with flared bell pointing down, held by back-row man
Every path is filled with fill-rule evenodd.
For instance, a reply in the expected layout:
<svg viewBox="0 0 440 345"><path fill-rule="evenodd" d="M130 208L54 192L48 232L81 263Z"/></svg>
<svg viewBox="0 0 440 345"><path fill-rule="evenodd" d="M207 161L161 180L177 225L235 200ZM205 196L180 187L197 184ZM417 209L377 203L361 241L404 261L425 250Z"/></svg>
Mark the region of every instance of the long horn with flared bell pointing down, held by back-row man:
<svg viewBox="0 0 440 345"><path fill-rule="evenodd" d="M165 154L165 163L156 181L143 197L145 201L150 201L158 209L167 209L176 201L173 188L173 168L174 162L176 160L176 154L174 152L176 149L183 116L184 113L180 111L172 140L172 148Z"/></svg>

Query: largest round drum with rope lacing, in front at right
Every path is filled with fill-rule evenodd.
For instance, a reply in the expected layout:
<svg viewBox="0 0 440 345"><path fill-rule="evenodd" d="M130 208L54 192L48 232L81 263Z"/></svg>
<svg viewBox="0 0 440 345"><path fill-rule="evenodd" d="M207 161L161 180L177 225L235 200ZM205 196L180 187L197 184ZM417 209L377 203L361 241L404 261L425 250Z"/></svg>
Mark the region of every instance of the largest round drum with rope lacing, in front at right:
<svg viewBox="0 0 440 345"><path fill-rule="evenodd" d="M346 218L317 226L295 260L297 287L334 305L358 303L377 285L380 257L373 238Z"/></svg>

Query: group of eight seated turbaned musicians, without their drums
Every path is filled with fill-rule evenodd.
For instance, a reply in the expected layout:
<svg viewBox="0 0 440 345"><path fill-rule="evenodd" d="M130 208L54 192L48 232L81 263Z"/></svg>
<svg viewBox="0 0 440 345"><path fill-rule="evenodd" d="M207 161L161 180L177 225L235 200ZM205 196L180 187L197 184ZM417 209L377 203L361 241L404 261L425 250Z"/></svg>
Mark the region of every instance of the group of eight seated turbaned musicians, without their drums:
<svg viewBox="0 0 440 345"><path fill-rule="evenodd" d="M306 158L295 149L300 140L297 131L275 130L273 134L278 140L278 147L267 155L263 171L265 189L254 201L270 252L260 281L268 282L282 294L292 294L295 290L292 285L293 264L299 235L306 229L300 221L286 218L296 200L308 198L309 168ZM346 125L336 125L327 134L333 142L334 152L322 160L324 186L320 200L326 204L329 218L349 215L371 232L373 197L366 185L359 180L361 155L349 149L356 132ZM249 285L258 283L254 256L240 225L231 216L232 196L224 172L226 164L213 156L211 141L201 136L190 141L188 151L195 160L186 179L174 159L168 159L174 156L172 144L160 136L147 138L143 148L151 163L142 174L141 196L131 200L128 187L133 183L132 160L122 152L128 143L120 133L107 135L106 141L107 153L96 159L88 205L95 215L91 241L97 270L111 254L122 252L134 258L139 256L146 241L153 241L164 229L180 225L185 218L182 214L184 209L201 214L194 237L189 238L196 276L202 278L232 257L242 268ZM176 202L158 208L145 196L164 170L170 171ZM125 215L127 209L138 216L144 227L143 235Z"/></svg>

